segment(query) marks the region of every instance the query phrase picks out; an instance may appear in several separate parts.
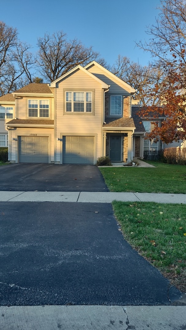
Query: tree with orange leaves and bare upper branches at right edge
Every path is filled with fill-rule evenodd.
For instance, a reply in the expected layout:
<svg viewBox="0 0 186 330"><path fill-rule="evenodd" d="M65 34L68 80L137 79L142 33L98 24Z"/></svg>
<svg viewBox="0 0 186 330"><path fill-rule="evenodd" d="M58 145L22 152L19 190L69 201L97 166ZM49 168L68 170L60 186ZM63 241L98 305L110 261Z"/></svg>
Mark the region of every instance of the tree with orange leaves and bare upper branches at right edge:
<svg viewBox="0 0 186 330"><path fill-rule="evenodd" d="M163 82L155 85L151 96L158 106L149 105L138 113L154 123L148 138L160 138L165 143L186 140L186 1L161 0L156 25L147 33L150 42L138 46L151 52L154 67L164 72ZM155 118L164 117L161 127Z"/></svg>

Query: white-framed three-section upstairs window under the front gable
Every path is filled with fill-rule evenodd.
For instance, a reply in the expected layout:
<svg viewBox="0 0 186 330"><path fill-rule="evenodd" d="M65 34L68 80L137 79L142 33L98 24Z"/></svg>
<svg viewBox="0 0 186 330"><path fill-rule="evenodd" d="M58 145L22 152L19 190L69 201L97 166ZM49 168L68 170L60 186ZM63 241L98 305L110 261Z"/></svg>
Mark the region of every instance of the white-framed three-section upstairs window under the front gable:
<svg viewBox="0 0 186 330"><path fill-rule="evenodd" d="M92 92L66 92L66 112L92 112Z"/></svg>

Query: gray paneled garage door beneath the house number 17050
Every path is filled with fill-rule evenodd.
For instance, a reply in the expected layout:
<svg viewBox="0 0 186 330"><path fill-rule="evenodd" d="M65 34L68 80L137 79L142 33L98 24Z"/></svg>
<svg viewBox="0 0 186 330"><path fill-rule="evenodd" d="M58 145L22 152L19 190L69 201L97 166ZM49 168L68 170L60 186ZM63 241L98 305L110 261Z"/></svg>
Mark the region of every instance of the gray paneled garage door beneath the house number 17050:
<svg viewBox="0 0 186 330"><path fill-rule="evenodd" d="M19 163L48 162L48 136L19 136Z"/></svg>

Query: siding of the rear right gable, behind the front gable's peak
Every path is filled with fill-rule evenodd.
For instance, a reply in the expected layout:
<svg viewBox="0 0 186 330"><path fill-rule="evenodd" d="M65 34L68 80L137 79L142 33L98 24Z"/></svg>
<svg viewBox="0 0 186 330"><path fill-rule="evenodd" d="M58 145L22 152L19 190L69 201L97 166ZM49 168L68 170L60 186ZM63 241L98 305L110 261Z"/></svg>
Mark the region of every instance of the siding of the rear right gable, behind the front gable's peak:
<svg viewBox="0 0 186 330"><path fill-rule="evenodd" d="M93 65L88 69L88 71L91 72L95 77L105 82L107 85L110 85L109 93L117 93L117 95L119 95L119 93L122 93L122 95L130 94L130 86L124 87L122 83L120 83L114 76L109 74L106 76L105 71L101 70L101 68Z"/></svg>

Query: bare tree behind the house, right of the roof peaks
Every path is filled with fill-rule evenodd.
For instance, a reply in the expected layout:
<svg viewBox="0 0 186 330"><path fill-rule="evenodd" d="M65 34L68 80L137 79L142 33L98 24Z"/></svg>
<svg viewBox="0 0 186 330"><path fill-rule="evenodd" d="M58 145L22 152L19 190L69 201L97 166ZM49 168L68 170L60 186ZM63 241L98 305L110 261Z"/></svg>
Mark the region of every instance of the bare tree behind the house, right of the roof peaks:
<svg viewBox="0 0 186 330"><path fill-rule="evenodd" d="M152 94L154 86L160 87L163 82L163 73L159 68L151 65L142 66L130 61L128 57L119 55L111 72L136 89L134 98L139 99L142 106L160 103L158 95Z"/></svg>

